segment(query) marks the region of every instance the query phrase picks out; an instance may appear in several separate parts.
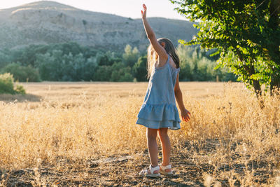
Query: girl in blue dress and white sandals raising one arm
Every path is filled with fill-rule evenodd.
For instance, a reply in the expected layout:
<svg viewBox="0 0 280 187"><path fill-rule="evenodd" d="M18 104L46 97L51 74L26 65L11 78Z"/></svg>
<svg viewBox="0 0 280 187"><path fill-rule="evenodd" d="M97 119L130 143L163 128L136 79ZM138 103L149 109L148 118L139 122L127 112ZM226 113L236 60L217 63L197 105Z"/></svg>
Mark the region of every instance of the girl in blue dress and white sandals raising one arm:
<svg viewBox="0 0 280 187"><path fill-rule="evenodd" d="M169 39L156 39L153 29L146 18L147 8L143 4L141 11L143 24L151 45L148 47L148 89L144 103L137 115L137 124L147 127L146 136L151 165L143 169L143 176L158 177L160 174L172 174L170 165L171 145L167 130L179 130L180 118L175 97L184 121L190 120L190 112L183 104L179 87L179 57ZM158 166L157 134L162 144L162 164Z"/></svg>

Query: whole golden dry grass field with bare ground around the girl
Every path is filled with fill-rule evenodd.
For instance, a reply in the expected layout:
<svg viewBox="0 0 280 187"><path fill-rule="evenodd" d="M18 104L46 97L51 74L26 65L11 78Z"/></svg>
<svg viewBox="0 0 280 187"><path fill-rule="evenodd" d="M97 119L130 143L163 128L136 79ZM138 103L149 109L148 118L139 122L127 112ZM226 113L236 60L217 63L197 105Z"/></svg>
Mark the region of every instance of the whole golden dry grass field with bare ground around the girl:
<svg viewBox="0 0 280 187"><path fill-rule="evenodd" d="M241 83L180 83L191 120L169 131L175 174L159 179L138 175L148 83L23 85L0 95L0 186L280 186L280 99L261 108Z"/></svg>

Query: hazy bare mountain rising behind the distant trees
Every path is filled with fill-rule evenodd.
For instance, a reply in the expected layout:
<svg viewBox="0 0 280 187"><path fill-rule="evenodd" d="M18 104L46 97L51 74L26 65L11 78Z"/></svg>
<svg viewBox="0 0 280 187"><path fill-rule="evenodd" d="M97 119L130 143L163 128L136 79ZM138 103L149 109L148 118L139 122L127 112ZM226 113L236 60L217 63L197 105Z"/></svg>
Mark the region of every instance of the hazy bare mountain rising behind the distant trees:
<svg viewBox="0 0 280 187"><path fill-rule="evenodd" d="M193 23L148 18L158 38L174 43L190 40L197 33ZM148 39L141 19L83 11L55 1L37 1L0 10L0 49L29 44L75 41L82 46L122 50L128 43L145 50Z"/></svg>

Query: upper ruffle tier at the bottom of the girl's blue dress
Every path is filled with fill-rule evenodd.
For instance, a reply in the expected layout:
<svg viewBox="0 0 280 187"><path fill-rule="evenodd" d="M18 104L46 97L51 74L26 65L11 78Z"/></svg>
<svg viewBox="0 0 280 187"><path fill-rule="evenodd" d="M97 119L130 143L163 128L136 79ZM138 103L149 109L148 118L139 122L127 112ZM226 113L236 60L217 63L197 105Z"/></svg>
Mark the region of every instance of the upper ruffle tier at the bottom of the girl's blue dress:
<svg viewBox="0 0 280 187"><path fill-rule="evenodd" d="M174 104L144 103L142 104L137 117L147 120L174 120L175 122L181 122L178 109Z"/></svg>

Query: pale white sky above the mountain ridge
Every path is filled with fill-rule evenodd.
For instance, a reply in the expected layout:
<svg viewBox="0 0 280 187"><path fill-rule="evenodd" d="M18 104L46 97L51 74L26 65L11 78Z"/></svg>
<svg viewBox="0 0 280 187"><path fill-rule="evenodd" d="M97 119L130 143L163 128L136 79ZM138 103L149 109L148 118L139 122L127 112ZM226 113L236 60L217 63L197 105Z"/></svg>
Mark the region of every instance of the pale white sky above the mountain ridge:
<svg viewBox="0 0 280 187"><path fill-rule="evenodd" d="M36 1L36 0L35 0ZM174 4L169 0L55 0L87 11L111 13L130 18L141 18L142 4L148 7L147 17L163 17L186 20L182 15L174 11ZM28 4L31 0L1 1L0 9L11 8Z"/></svg>

